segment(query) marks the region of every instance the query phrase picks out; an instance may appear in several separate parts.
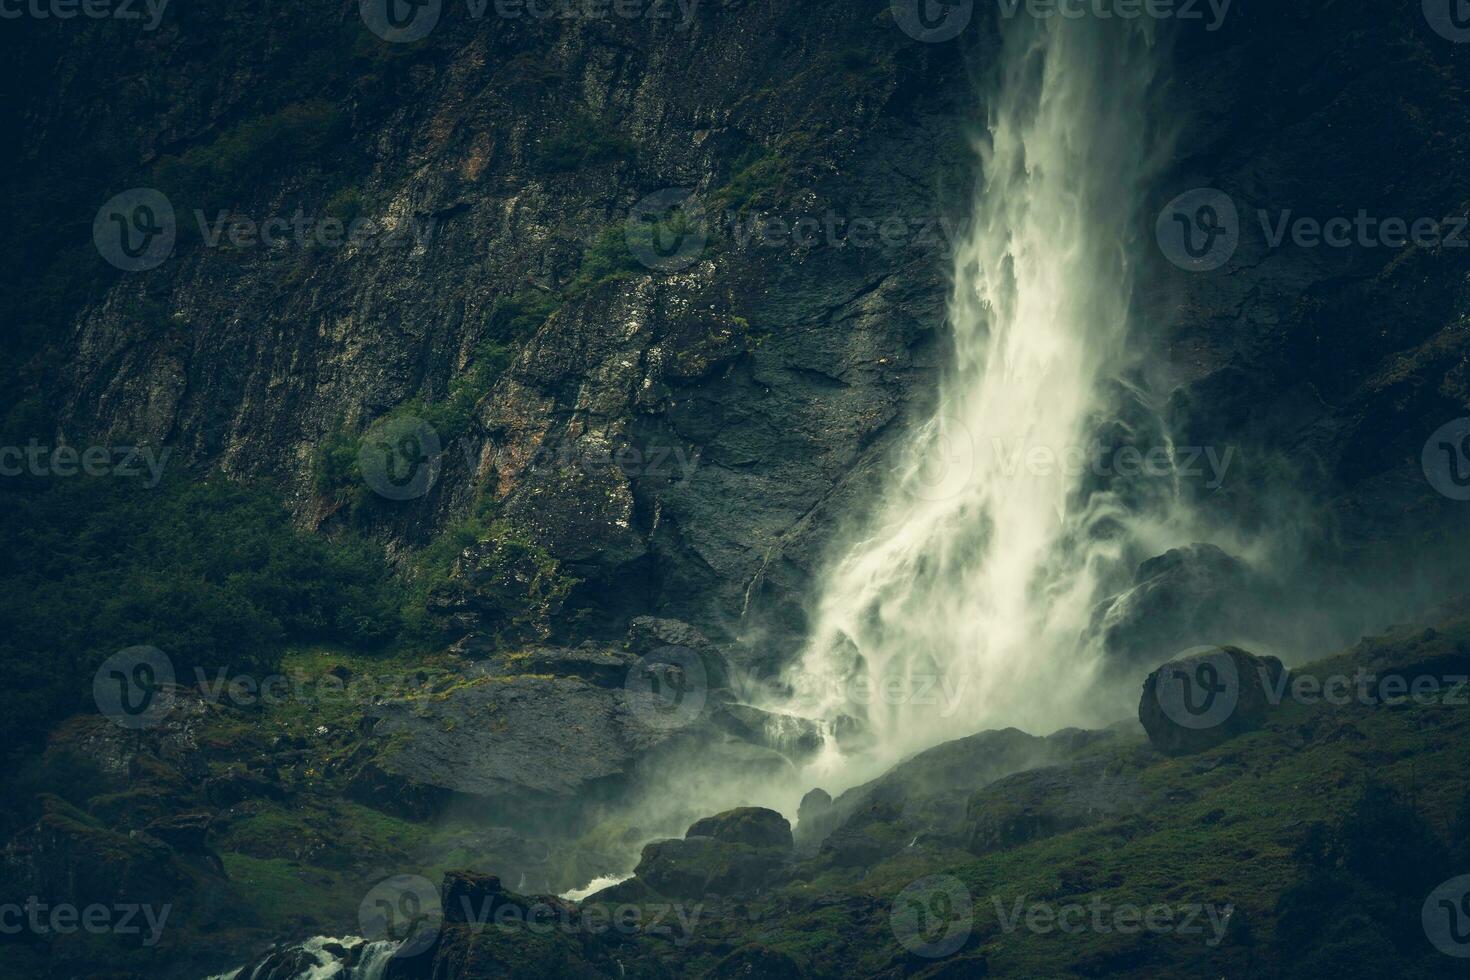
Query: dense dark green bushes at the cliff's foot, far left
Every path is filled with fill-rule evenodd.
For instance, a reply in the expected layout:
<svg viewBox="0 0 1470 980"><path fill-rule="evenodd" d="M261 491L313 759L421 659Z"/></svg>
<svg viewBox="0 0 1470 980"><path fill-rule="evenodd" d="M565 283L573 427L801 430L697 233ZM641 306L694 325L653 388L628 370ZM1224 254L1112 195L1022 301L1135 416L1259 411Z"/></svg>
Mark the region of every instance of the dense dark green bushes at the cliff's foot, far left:
<svg viewBox="0 0 1470 980"><path fill-rule="evenodd" d="M281 501L223 479L94 478L6 494L0 527L0 739L34 742L87 710L97 664L163 649L181 671L269 670L284 644L381 646L401 627L378 550L291 525Z"/></svg>

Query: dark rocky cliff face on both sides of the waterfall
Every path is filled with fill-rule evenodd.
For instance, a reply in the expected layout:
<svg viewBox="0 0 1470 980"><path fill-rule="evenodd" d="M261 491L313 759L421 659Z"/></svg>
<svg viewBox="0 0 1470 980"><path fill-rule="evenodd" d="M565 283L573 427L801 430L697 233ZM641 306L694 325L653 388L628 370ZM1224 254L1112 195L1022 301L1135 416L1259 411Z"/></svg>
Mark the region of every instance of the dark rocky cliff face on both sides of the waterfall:
<svg viewBox="0 0 1470 980"><path fill-rule="evenodd" d="M10 397L44 406L46 436L169 445L394 552L488 505L579 582L573 632L800 627L828 542L932 391L991 16L942 44L876 0L447 4L409 44L350 4L63 26L25 25L7 148L22 200L66 181L65 231L31 242L62 295L15 313L41 323ZM1172 26L1158 206L1217 188L1241 232L1217 270L1155 256L1141 298L1175 441L1233 460L1189 489L1314 560L1442 541L1464 510L1419 457L1470 401L1464 48L1366 1ZM129 187L173 206L171 257L116 273L93 256L104 288L65 289L90 247L76 222ZM706 222L650 238L681 201ZM1270 241L1360 210L1441 237ZM241 225L297 212L304 235L270 245ZM334 247L328 217L369 225ZM323 445L351 457L420 417L442 457L409 495L353 507L322 476Z"/></svg>

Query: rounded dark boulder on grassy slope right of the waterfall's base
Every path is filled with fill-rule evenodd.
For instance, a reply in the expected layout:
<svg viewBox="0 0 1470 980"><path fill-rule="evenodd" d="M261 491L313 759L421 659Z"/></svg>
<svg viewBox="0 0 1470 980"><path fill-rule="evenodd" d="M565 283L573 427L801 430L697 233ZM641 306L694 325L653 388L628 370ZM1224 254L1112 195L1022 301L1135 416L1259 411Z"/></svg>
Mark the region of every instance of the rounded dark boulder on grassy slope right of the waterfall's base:
<svg viewBox="0 0 1470 980"><path fill-rule="evenodd" d="M1138 720L1160 752L1202 752L1258 729L1286 683L1274 657L1236 646L1200 649L1148 674Z"/></svg>

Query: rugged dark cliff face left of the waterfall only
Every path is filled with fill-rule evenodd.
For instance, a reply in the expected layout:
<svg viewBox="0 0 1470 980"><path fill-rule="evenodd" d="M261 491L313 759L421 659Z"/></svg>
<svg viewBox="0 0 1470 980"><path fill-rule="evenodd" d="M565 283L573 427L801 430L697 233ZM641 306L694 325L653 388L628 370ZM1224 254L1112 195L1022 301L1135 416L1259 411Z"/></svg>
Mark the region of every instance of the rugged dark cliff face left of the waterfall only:
<svg viewBox="0 0 1470 980"><path fill-rule="evenodd" d="M454 416L434 426L441 470L372 508L387 539L422 545L484 495L613 620L734 633L767 594L792 602L850 475L928 389L939 219L969 185L975 107L957 48L910 43L883 4L651 6L476 21L451 4L413 46L354 6L49 35L51 66L87 78L28 106L18 163L106 144L97 204L131 185L181 198L172 257L49 338L57 432L176 447L331 527L318 447L435 407L416 414ZM315 84L281 106L276 72ZM101 78L106 97L82 94ZM269 153L260 125L284 129ZM240 144L244 173L222 172ZM639 262L638 203L681 188L709 212L706 245ZM381 229L359 247L190 229L194 209L265 223L344 200Z"/></svg>

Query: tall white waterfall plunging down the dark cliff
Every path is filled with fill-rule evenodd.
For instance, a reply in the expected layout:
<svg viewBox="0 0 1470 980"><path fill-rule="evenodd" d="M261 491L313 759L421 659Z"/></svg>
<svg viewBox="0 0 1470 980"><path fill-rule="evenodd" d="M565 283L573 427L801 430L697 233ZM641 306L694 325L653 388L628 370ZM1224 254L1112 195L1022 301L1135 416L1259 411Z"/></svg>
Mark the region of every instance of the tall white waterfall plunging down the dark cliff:
<svg viewBox="0 0 1470 980"><path fill-rule="evenodd" d="M1138 229L1166 148L1154 29L1001 21L936 408L823 574L786 677L785 710L866 738L867 773L829 739L829 783L988 727L1111 720L1080 638L1130 535L1161 520L1078 464L1135 366Z"/></svg>

